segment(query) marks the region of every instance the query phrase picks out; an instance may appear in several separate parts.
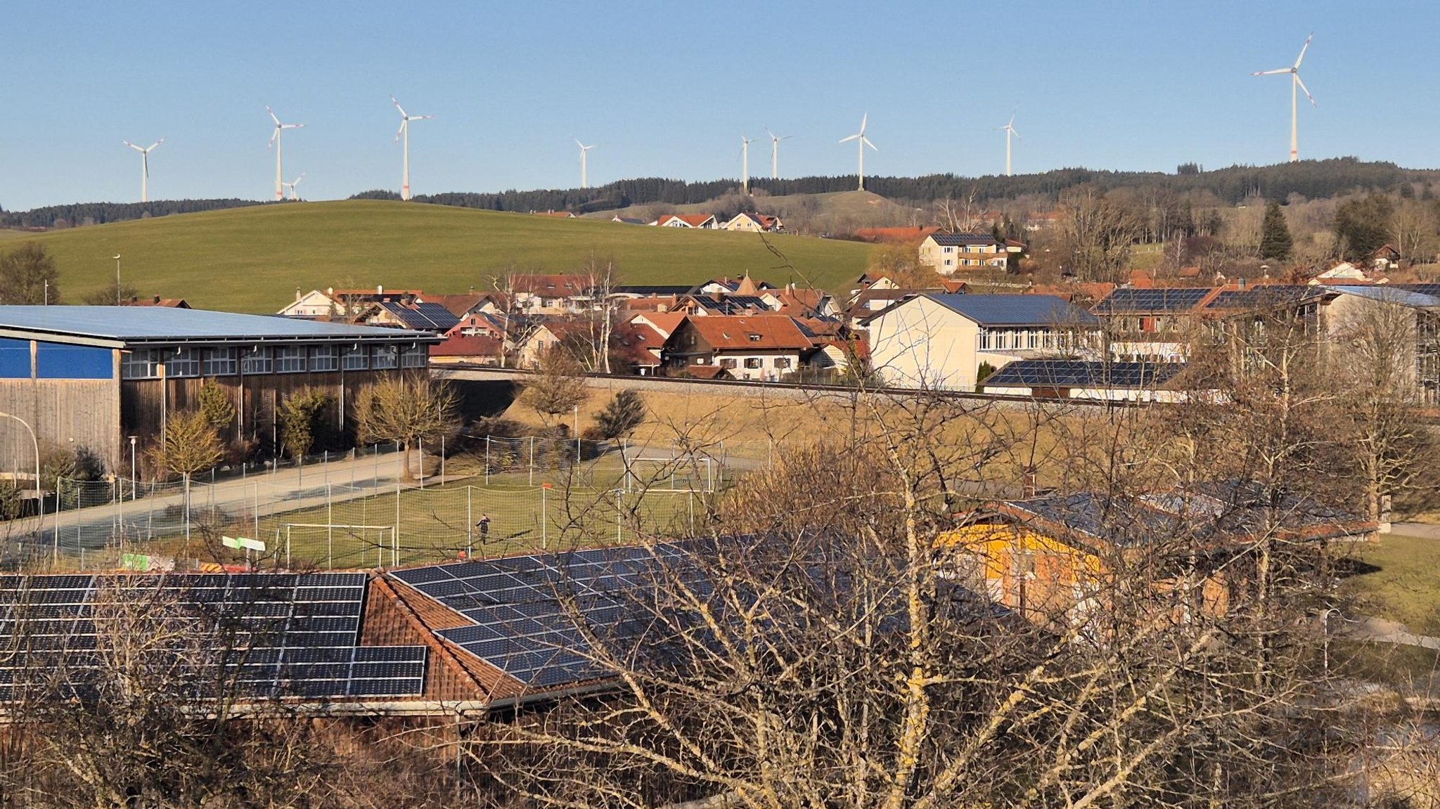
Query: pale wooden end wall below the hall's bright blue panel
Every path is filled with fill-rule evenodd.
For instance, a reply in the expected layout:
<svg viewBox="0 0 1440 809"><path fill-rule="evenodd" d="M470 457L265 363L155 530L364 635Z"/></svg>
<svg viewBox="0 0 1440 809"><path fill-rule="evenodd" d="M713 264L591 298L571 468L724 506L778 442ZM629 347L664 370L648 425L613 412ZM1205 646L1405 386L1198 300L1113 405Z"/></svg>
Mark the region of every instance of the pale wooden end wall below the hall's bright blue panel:
<svg viewBox="0 0 1440 809"><path fill-rule="evenodd" d="M112 379L0 379L0 410L29 422L42 445L85 448L112 471L121 468L120 386ZM0 417L0 465L33 475L30 433L13 419Z"/></svg>

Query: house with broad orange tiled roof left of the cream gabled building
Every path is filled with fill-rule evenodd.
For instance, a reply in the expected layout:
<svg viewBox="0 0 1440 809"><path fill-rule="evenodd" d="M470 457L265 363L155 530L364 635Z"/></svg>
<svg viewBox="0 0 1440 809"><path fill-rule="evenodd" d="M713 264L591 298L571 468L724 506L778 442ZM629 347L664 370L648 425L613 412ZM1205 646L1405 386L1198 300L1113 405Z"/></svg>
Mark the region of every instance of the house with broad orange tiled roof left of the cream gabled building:
<svg viewBox="0 0 1440 809"><path fill-rule="evenodd" d="M785 315L691 317L665 341L662 357L672 376L716 367L734 379L779 381L814 348L814 337Z"/></svg>

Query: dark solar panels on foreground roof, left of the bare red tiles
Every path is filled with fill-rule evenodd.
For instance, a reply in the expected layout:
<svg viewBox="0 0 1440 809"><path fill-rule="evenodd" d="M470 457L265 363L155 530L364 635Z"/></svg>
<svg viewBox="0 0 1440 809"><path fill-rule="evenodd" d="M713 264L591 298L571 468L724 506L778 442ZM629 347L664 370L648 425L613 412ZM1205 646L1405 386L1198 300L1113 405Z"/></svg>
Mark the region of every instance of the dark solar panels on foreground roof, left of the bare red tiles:
<svg viewBox="0 0 1440 809"><path fill-rule="evenodd" d="M200 652L174 661L193 697L217 681L233 681L246 697L420 694L425 646L357 645L364 592L364 573L0 576L0 648L14 651L0 658L0 700L56 668L66 672L66 691L84 694L102 638L137 623L220 645L213 659Z"/></svg>

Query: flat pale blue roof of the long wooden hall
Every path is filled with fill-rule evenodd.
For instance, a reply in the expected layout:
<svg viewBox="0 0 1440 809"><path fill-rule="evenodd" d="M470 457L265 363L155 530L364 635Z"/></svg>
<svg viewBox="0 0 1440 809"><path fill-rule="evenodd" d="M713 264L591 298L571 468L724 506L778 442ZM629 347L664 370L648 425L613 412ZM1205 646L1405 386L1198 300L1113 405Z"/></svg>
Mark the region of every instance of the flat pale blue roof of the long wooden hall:
<svg viewBox="0 0 1440 809"><path fill-rule="evenodd" d="M425 331L161 307L0 307L0 335L62 343L435 343Z"/></svg>

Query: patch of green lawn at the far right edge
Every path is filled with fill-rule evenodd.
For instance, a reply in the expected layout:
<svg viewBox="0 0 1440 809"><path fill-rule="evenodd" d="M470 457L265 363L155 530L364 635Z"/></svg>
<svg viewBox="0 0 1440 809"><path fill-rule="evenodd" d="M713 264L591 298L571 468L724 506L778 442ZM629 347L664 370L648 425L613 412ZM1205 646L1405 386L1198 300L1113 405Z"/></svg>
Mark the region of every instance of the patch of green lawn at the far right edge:
<svg viewBox="0 0 1440 809"><path fill-rule="evenodd" d="M1362 612L1398 620L1418 635L1440 635L1440 540L1381 534L1355 546L1354 556L1378 567L1345 580Z"/></svg>

